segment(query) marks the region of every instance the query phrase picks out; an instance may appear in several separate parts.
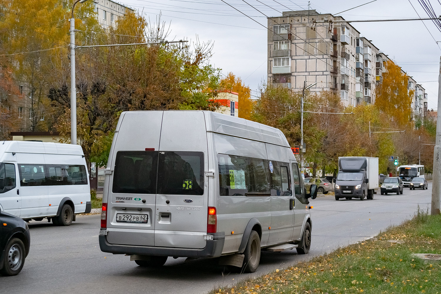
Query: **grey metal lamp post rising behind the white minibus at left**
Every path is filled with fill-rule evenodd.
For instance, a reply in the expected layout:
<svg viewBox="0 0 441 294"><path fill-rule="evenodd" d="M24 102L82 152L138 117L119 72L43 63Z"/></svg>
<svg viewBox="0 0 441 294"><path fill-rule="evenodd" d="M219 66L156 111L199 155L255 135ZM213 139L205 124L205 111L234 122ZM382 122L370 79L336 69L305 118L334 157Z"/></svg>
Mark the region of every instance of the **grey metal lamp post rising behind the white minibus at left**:
<svg viewBox="0 0 441 294"><path fill-rule="evenodd" d="M75 19L74 8L75 4L84 3L87 0L76 0L72 5L72 17L69 19L71 22L71 144L77 145L77 88L75 86Z"/></svg>

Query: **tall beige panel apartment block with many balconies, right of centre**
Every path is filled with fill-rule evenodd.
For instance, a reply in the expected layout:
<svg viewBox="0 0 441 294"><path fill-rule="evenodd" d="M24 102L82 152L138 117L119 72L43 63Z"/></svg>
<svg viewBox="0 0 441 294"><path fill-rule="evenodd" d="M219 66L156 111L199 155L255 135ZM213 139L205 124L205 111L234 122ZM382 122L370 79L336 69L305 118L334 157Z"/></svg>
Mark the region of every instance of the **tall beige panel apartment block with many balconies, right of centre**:
<svg viewBox="0 0 441 294"><path fill-rule="evenodd" d="M345 106L375 103L375 87L383 82L390 59L341 21L340 16L315 10L285 11L268 18L268 83L302 90L316 82L310 91L331 90ZM424 109L419 99L425 97L424 89L412 78L408 89L418 92L417 101L412 101L415 118Z"/></svg>

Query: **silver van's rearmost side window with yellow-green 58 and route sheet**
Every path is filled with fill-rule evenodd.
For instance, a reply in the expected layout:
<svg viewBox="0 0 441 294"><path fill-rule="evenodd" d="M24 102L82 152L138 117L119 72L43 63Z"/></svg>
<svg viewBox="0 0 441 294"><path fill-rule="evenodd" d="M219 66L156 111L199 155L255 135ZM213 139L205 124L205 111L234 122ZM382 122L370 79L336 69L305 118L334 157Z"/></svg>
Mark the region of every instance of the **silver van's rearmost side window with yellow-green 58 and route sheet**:
<svg viewBox="0 0 441 294"><path fill-rule="evenodd" d="M268 160L218 154L221 196L269 196Z"/></svg>

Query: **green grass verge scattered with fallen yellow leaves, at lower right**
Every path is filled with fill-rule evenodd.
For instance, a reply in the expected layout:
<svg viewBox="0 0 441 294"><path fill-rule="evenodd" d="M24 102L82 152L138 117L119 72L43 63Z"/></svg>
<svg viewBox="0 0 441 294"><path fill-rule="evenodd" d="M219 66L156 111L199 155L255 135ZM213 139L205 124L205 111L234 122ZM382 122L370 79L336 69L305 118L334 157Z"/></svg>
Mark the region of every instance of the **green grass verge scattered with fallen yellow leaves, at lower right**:
<svg viewBox="0 0 441 294"><path fill-rule="evenodd" d="M441 263L425 263L412 253L441 254L440 215L418 207L412 220L373 239L210 293L441 293Z"/></svg>

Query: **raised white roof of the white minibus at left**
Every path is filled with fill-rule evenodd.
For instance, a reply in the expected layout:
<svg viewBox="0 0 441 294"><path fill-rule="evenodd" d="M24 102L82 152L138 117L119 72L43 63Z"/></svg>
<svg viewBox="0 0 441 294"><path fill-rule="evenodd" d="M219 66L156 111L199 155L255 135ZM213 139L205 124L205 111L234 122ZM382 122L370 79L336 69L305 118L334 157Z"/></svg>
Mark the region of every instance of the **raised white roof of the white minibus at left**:
<svg viewBox="0 0 441 294"><path fill-rule="evenodd" d="M4 152L84 155L80 145L35 141L0 141Z"/></svg>

